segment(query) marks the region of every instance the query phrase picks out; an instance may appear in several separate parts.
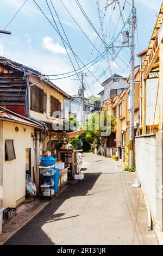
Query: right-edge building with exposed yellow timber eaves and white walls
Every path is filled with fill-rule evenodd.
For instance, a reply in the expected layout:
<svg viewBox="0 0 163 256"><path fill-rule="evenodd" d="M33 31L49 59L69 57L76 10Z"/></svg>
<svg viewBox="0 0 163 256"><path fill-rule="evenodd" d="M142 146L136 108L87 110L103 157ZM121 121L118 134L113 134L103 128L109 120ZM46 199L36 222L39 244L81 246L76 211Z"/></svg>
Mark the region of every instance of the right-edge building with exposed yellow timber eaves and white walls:
<svg viewBox="0 0 163 256"><path fill-rule="evenodd" d="M163 230L163 3L141 66L142 135L136 141L136 174L148 203L149 223ZM151 29L152 30L152 29ZM148 212L149 212L148 211Z"/></svg>

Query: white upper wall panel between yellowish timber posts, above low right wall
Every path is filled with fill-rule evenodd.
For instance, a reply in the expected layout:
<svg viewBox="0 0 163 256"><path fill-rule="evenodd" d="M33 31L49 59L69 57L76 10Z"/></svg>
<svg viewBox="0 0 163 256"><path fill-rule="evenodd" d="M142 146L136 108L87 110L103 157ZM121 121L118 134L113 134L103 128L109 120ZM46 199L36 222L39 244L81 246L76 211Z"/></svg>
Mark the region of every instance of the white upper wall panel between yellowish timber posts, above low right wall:
<svg viewBox="0 0 163 256"><path fill-rule="evenodd" d="M146 125L153 125L159 123L159 98L156 103L156 95L158 90L159 78L152 78L146 80ZM154 119L156 103L156 113Z"/></svg>

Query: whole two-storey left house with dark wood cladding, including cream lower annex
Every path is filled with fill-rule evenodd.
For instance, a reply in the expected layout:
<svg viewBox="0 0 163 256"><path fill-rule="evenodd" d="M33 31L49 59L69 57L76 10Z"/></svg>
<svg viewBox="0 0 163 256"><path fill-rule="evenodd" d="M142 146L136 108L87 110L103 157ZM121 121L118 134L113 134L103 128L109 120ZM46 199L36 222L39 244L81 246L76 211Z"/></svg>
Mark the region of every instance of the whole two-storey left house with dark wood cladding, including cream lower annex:
<svg viewBox="0 0 163 256"><path fill-rule="evenodd" d="M26 168L27 158L32 178L34 178L33 167L37 169L38 178L40 156L43 151L51 150L52 155L58 157L60 145L76 133L65 124L70 112L68 102L71 96L37 70L4 57L0 57L0 90L1 109L13 119L10 124L1 121L3 164L0 175L1 183L4 185L3 203L5 207L17 206L24 199L24 191L26 191L26 174L29 173ZM61 112L65 109L67 114ZM31 128L26 128L27 124L24 121L20 121L15 126L17 118L26 120ZM10 161L5 161L4 158L7 139L10 140L9 147L15 149L16 159ZM16 178L18 178L16 182L18 188L14 185Z"/></svg>

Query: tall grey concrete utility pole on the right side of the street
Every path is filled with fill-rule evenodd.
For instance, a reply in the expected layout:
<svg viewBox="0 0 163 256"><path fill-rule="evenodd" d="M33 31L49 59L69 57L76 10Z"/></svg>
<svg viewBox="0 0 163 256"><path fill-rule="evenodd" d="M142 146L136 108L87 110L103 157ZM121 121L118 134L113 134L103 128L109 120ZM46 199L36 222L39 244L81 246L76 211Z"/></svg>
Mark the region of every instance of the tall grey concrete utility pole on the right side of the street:
<svg viewBox="0 0 163 256"><path fill-rule="evenodd" d="M134 111L135 111L135 23L136 23L136 9L134 6L134 0L131 0L131 39L130 39L130 51L131 51L131 73L130 73L130 150L129 150L129 166L134 166Z"/></svg>

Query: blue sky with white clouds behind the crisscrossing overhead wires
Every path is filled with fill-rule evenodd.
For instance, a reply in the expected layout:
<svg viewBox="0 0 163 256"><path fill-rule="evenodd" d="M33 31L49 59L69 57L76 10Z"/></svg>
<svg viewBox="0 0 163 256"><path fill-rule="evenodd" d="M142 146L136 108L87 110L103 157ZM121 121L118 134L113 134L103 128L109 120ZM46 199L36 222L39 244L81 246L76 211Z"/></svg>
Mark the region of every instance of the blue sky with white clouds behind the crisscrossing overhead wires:
<svg viewBox="0 0 163 256"><path fill-rule="evenodd" d="M12 16L14 16L16 11L20 8L20 6L23 4L24 0L1 0L0 2L0 24L1 29L3 29L10 21ZM36 2L40 5L41 9L47 15L48 19L53 23L53 19L51 13L49 13L46 1L36 0ZM62 2L70 11L74 19L78 22L79 26L89 37L92 44L80 31L76 23L74 23L71 16L67 13L66 9L61 4L60 0L52 0L52 2L57 10L58 16L60 18L62 26L65 29L68 40L71 43L73 51L77 54L77 56L80 58L80 60L82 60L82 62L85 65L88 63L88 60L89 62L91 60L94 60L97 57L98 52L95 48L93 49L92 44L95 45L95 41L97 39L95 46L99 50L102 44L102 40L97 36L96 32L87 22L84 15L80 11L77 3L74 0L62 0ZM97 0L79 0L79 3L82 5L86 14L89 16L96 30L99 31L101 26L98 19L96 2ZM108 2L110 3L111 1ZM48 3L52 9L52 5L49 0ZM105 13L105 3L106 0L99 0L99 8L101 10L101 15ZM123 3L124 0L120 0L121 8L123 6ZM130 0L126 2L123 10L124 21L126 21L130 12L129 3ZM149 40L152 35L152 30L155 25L156 15L158 15L159 13L161 3L162 1L160 0L135 0L135 7L137 10L138 20L137 29L135 33L136 53L145 50L148 47ZM114 11L113 7L114 5L108 7L103 22L104 32L106 31L106 27L108 27L109 24L108 30L106 32L107 44L109 44L109 42L112 41L112 38L115 38L115 36L121 31L121 28L123 26L123 20L120 18L120 9L118 5L116 5ZM62 36L65 38L64 33L61 31L61 27L59 25L57 16L55 15L53 9L52 11L54 19L57 22L57 25L59 26L60 32ZM129 27L128 24L126 25L126 27ZM27 0L26 4L21 9L20 13L17 14L17 16L11 22L7 29L11 31L11 35L3 34L0 37L0 54L2 56L15 60L16 62L22 63L24 65L36 68L37 70L40 70L43 74L47 75L62 74L73 70L73 66L70 62L70 59L67 56L66 50L64 48L64 45L62 44L60 36L54 30L51 24L45 19L41 11L36 7L33 0ZM139 38L139 48L137 44L137 32ZM100 31L100 35L102 37L102 31ZM114 46L118 45L120 45L120 37L116 40ZM78 65L73 57L70 48L68 48L68 46L66 48L68 53L70 54L70 57L73 60L75 68L78 69ZM103 52L104 50L105 47L102 44L100 52ZM113 58L117 51L118 48L116 47L110 50L110 53L112 54L111 56ZM109 61L111 60L111 56L108 56ZM121 59L126 64L123 63ZM110 62L111 70L108 69L107 72L104 72L104 70L108 66L108 62L105 59L102 59L98 63L93 65L90 68L92 74L89 71L86 72L86 81L88 85L85 83L85 96L90 96L92 95L92 93L97 95L98 92L102 90L102 86L99 82L103 82L111 74L114 74L114 72L123 76L127 76L129 74L129 67L127 66L127 64L129 64L129 60L129 49L123 48L123 50L118 54L118 57L115 59L115 61ZM136 58L135 64L139 64L139 59ZM83 66L83 64L80 61L79 65L80 68ZM122 72L122 70L124 70L124 72ZM101 77L99 78L99 82L96 80L96 78L98 77ZM62 80L55 80L53 82L62 89L64 89L67 93L72 95L77 93L77 90L80 86L79 81L72 80L76 78L77 76L73 76Z"/></svg>

